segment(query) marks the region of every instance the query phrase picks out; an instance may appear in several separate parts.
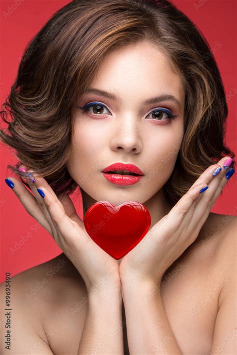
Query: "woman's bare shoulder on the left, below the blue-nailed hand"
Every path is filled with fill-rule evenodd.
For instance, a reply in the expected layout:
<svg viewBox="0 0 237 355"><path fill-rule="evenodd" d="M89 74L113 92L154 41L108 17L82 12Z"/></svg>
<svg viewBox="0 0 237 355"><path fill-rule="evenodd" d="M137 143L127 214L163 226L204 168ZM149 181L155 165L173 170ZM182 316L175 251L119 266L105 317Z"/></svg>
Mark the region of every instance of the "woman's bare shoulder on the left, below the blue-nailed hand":
<svg viewBox="0 0 237 355"><path fill-rule="evenodd" d="M78 296L83 289L82 278L64 253L53 259L33 266L22 271L10 279L10 332L11 351L10 353L26 353L24 351L35 351L34 353L52 353L48 339L53 337L48 332L45 324L52 315L52 309L59 309L62 304L68 304L75 295ZM5 295L5 282L0 284L1 294L1 326L6 334L5 322L7 316L2 307ZM25 345L25 335L27 346ZM14 341L13 341L14 339ZM22 340L21 340L22 339ZM24 344L23 344L24 339ZM29 339L31 339L31 344ZM2 340L2 339L1 339ZM17 344L17 350L14 348ZM38 347L36 351L35 346ZM21 351L22 347L22 352ZM4 348L1 351L5 351ZM40 352L41 351L41 352ZM48 352L47 352L48 351ZM1 352L5 353L5 352Z"/></svg>

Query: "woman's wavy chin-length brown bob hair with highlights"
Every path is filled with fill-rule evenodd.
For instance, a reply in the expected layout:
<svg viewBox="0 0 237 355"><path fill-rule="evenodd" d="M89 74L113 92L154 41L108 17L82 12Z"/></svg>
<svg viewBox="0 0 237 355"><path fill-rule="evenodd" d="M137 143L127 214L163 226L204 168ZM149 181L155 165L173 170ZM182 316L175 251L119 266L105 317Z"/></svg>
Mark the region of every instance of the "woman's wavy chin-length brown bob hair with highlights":
<svg viewBox="0 0 237 355"><path fill-rule="evenodd" d="M0 111L10 133L1 129L1 140L19 159L7 167L22 182L21 163L43 176L55 193L75 190L78 184L66 168L73 107L105 55L141 40L166 54L185 90L184 136L163 186L169 202L175 204L210 164L234 157L224 144L228 108L216 61L183 12L167 0L73 0L27 44Z"/></svg>

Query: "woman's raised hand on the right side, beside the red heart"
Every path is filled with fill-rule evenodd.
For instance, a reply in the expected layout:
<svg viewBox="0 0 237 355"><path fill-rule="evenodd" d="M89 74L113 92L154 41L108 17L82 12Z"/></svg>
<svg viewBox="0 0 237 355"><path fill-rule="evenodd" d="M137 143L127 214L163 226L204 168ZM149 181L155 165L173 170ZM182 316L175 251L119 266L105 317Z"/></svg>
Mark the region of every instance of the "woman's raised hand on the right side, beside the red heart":
<svg viewBox="0 0 237 355"><path fill-rule="evenodd" d="M166 269L196 239L211 207L227 183L225 173L229 171L230 174L233 170L223 168L227 159L225 156L217 164L210 165L169 213L154 224L122 258L119 264L122 285L130 285L135 281L160 283ZM213 176L218 167L221 167L220 172ZM208 188L200 193L206 185Z"/></svg>

